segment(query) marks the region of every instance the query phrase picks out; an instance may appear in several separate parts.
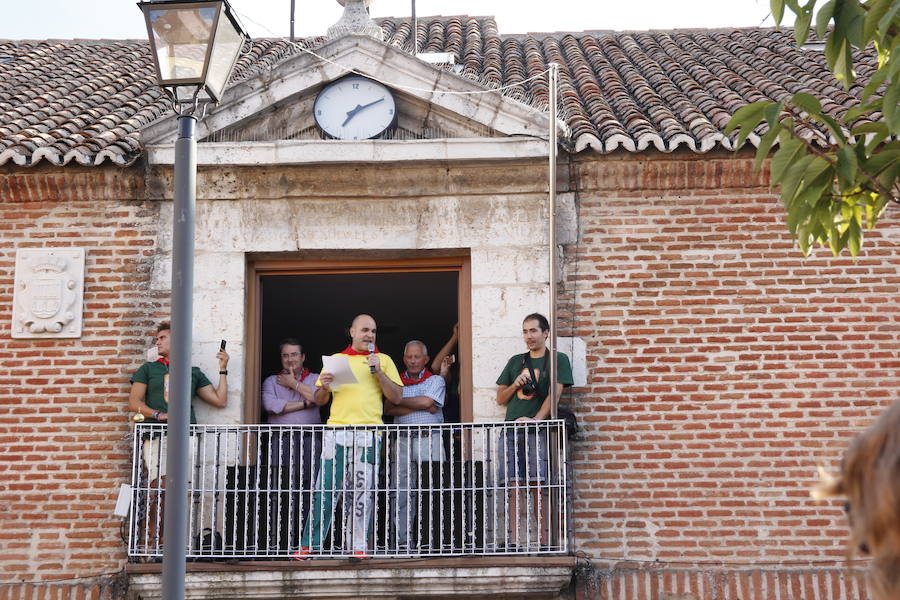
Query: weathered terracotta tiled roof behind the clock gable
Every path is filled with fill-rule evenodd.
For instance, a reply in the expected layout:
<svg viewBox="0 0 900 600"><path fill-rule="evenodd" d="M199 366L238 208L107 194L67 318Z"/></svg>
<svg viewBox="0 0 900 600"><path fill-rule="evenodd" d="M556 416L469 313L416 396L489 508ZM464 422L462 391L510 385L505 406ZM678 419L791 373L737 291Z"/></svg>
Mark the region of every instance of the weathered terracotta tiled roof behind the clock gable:
<svg viewBox="0 0 900 600"><path fill-rule="evenodd" d="M408 19L380 24L387 43L410 49ZM748 102L808 91L839 115L860 94L859 87L844 91L821 53L798 49L790 31L500 35L494 19L466 16L421 18L417 31L420 52L452 52L464 75L490 87L519 84L559 63L561 109L576 151L730 148L721 132ZM285 40L255 40L235 78L300 51ZM864 62L861 80L874 68L874 60ZM546 81L513 91L548 103ZM0 165L132 164L141 129L168 111L143 40L0 41Z"/></svg>

